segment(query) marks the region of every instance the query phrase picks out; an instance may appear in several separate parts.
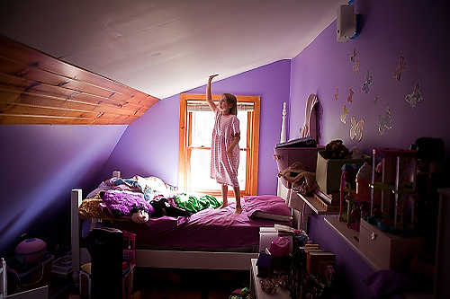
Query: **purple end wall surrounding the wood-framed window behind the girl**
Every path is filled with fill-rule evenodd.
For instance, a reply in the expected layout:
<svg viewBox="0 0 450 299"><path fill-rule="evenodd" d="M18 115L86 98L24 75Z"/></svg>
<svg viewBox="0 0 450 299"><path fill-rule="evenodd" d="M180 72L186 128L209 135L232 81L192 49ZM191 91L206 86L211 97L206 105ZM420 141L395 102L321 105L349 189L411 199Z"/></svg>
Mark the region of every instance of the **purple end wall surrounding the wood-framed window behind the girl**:
<svg viewBox="0 0 450 299"><path fill-rule="evenodd" d="M281 112L289 101L290 60L213 82L211 92L230 92L261 96L259 134L258 194L275 194L277 173L273 159L274 146L280 141ZM207 78L205 78L205 81ZM187 93L204 93L200 86ZM179 94L159 101L141 118L133 122L114 148L103 168L103 180L112 170L120 169L124 176L157 175L166 182L177 183Z"/></svg>

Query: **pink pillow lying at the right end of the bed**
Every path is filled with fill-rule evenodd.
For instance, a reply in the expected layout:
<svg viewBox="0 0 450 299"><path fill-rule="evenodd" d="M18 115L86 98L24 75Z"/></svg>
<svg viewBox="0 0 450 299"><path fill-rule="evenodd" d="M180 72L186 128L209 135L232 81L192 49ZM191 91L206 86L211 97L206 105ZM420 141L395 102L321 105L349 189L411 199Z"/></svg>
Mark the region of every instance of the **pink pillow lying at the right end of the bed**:
<svg viewBox="0 0 450 299"><path fill-rule="evenodd" d="M250 219L263 218L275 221L292 221L291 209L283 198L275 195L246 196L244 210Z"/></svg>

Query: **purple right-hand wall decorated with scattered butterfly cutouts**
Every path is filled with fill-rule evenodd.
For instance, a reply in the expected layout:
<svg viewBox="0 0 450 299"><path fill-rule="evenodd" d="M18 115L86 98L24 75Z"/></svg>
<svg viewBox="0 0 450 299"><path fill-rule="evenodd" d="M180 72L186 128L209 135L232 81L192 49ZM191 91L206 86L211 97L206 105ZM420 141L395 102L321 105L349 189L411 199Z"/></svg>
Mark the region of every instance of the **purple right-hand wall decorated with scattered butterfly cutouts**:
<svg viewBox="0 0 450 299"><path fill-rule="evenodd" d="M292 60L290 136L298 136L307 96L316 92L323 110L321 144L340 138L347 147L408 148L420 136L434 136L444 139L448 153L448 75L444 70L450 63L445 12L444 4L435 1L356 1L356 13L362 14L364 27L355 40L338 43L336 22L332 22ZM360 56L357 73L350 61L355 48ZM400 56L405 57L406 69L399 82L392 75ZM367 70L373 74L373 85L369 93L363 93ZM416 82L424 101L411 108L404 99ZM351 103L347 102L350 88L355 92ZM381 97L377 103L376 95ZM347 124L339 119L344 105L348 108ZM393 128L381 136L378 118L388 106ZM351 116L365 119L361 143L349 137Z"/></svg>

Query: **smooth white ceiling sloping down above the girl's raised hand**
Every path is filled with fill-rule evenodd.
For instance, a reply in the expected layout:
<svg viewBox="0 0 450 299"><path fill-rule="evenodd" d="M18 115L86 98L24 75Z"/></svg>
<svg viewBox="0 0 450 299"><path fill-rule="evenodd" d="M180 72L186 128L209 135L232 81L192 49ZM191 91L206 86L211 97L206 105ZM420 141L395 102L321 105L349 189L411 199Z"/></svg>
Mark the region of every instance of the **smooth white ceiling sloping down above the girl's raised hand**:
<svg viewBox="0 0 450 299"><path fill-rule="evenodd" d="M293 58L342 0L1 0L0 34L157 98Z"/></svg>

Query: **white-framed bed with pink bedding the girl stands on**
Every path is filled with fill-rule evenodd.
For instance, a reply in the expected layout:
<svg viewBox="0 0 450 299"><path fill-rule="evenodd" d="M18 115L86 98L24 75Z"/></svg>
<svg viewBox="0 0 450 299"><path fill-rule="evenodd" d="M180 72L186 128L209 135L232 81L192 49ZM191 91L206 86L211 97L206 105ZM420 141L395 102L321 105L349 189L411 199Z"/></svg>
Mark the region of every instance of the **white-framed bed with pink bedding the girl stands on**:
<svg viewBox="0 0 450 299"><path fill-rule="evenodd" d="M87 251L80 250L79 207L82 202L82 190L72 189L71 241L75 281L79 274L78 265L89 260ZM229 207L205 208L189 216L150 217L145 224L115 221L108 226L137 233L137 267L247 270L251 266L250 260L258 256L259 228L274 224L293 225L293 218L284 199L276 196L243 197L242 206L242 214L235 215L235 202L229 198ZM284 218L275 221L257 215L260 211L272 212L274 208L275 215L284 214ZM278 213L280 209L284 212ZM289 222L286 222L285 210Z"/></svg>

